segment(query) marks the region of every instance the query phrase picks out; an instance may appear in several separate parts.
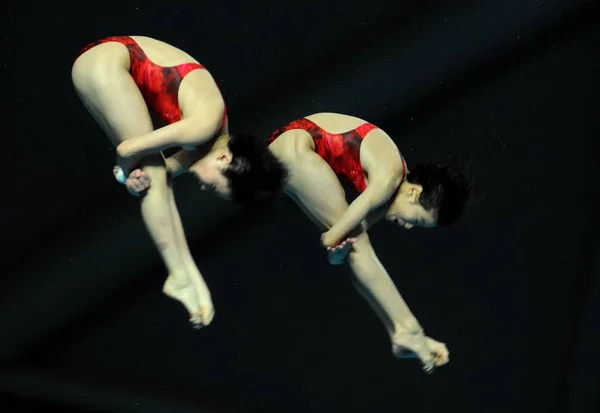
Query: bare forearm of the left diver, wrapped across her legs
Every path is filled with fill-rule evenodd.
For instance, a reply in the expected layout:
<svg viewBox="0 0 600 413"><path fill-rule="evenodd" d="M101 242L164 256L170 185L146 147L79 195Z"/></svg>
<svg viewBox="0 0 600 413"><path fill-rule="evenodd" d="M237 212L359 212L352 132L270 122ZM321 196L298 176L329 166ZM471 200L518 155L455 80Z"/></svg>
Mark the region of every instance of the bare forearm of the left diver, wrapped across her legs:
<svg viewBox="0 0 600 413"><path fill-rule="evenodd" d="M156 129L146 135L127 139L117 147L121 158L141 158L168 148L182 145L201 145L210 141L219 131L223 120L223 105Z"/></svg>

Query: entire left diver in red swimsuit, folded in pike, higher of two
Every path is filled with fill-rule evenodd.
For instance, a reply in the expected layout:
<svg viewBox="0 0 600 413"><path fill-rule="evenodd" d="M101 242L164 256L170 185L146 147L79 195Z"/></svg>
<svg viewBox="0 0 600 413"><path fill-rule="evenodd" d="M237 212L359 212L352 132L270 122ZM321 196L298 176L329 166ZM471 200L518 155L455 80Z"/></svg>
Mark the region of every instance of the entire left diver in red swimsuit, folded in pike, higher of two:
<svg viewBox="0 0 600 413"><path fill-rule="evenodd" d="M141 200L144 223L168 270L163 291L196 327L214 317L210 291L189 251L168 170L185 165L203 187L243 204L265 204L285 168L264 144L229 134L225 103L211 74L184 51L156 39L116 36L86 46L72 68L83 105L117 148L113 173ZM154 130L150 112L164 124ZM161 151L178 147L166 159Z"/></svg>

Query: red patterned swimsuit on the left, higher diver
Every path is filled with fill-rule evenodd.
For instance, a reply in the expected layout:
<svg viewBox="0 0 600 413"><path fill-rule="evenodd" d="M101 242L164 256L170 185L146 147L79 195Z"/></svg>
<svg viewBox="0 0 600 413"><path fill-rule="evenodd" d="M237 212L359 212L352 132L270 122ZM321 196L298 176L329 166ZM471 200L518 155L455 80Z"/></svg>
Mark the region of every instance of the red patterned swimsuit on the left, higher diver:
<svg viewBox="0 0 600 413"><path fill-rule="evenodd" d="M153 63L142 48L128 36L113 36L87 45L77 57L102 43L118 42L129 50L129 73L140 89L146 105L164 122L171 124L181 120L178 93L183 78L192 70L205 69L199 63L184 63L179 66L163 67ZM227 110L223 115L223 126L227 121Z"/></svg>

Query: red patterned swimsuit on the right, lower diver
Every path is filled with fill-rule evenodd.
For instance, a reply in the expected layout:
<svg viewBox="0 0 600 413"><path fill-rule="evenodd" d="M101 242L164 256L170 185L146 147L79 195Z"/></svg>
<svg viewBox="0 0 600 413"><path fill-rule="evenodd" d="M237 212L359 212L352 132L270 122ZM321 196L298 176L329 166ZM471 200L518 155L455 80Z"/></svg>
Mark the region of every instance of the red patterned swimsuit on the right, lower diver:
<svg viewBox="0 0 600 413"><path fill-rule="evenodd" d="M377 126L363 123L348 132L330 133L314 122L302 118L277 129L269 138L268 143L272 143L279 135L292 129L302 129L308 132L315 142L315 151L319 156L337 175L348 179L357 191L363 192L367 188L365 172L360 163L360 145L367 133L377 129ZM406 163L402 158L402 181L405 178Z"/></svg>

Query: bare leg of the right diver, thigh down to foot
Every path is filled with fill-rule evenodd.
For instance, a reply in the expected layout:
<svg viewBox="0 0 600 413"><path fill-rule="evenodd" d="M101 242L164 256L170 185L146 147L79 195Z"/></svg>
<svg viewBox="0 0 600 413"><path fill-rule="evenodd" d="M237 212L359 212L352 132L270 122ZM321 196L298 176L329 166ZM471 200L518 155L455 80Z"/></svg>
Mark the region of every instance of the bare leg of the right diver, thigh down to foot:
<svg viewBox="0 0 600 413"><path fill-rule="evenodd" d="M286 192L319 227L329 229L348 208L344 190L319 155L307 150L298 156L301 159L289 166ZM436 350L428 345L417 319L377 258L367 233L362 231L356 239L348 256L349 267L356 278L355 286L386 326L394 352L409 349L429 369L436 362L434 357L437 356L432 354Z"/></svg>

